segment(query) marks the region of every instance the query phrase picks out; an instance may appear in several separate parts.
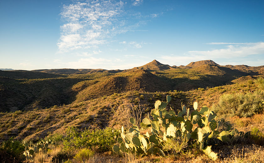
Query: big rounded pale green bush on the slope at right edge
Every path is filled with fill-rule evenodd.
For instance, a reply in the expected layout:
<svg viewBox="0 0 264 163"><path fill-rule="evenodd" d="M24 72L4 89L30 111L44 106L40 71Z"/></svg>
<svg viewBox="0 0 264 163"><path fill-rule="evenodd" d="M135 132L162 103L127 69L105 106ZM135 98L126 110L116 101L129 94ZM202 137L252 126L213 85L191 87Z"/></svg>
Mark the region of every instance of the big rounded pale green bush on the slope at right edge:
<svg viewBox="0 0 264 163"><path fill-rule="evenodd" d="M213 110L223 117L251 117L262 113L264 91L243 94L225 94L220 97L218 105Z"/></svg>

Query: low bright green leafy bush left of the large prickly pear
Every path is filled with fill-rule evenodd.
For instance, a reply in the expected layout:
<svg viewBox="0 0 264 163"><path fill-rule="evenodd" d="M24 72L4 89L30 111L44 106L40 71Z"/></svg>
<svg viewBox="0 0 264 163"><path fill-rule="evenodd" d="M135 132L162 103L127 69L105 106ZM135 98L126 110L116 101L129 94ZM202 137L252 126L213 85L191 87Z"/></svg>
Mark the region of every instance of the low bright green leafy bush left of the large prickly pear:
<svg viewBox="0 0 264 163"><path fill-rule="evenodd" d="M75 150L78 148L93 149L98 152L109 151L113 144L116 143L120 133L111 128L95 129L90 131L85 129L79 132L77 128L69 127L66 136L63 138L64 148L67 150Z"/></svg>

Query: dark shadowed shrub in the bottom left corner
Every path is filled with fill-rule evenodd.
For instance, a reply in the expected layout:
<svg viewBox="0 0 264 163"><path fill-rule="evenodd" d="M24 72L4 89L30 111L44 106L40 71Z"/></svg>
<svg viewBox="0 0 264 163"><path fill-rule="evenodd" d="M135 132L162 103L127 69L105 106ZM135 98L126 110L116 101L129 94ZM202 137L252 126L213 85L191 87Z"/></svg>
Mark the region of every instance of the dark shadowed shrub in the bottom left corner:
<svg viewBox="0 0 264 163"><path fill-rule="evenodd" d="M0 160L6 163L22 162L25 160L24 151L25 146L20 141L11 138L0 144Z"/></svg>

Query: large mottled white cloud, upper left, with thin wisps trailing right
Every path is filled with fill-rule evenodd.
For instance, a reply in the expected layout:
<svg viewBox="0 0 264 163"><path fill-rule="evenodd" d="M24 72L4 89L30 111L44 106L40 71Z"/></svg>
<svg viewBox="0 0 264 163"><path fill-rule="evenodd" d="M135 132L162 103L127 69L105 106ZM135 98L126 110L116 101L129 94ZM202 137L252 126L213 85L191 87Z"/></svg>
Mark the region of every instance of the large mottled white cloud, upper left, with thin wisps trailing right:
<svg viewBox="0 0 264 163"><path fill-rule="evenodd" d="M140 5L143 0L132 1L133 5ZM145 25L151 17L133 17L134 10L125 11L123 1L118 0L96 0L73 2L63 5L61 18L65 22L60 26L61 36L57 43L59 52L82 51L89 49L90 53L97 50L99 46L109 44L111 38L117 34L135 31L141 25ZM131 22L131 17L135 18ZM135 45L140 48L140 44Z"/></svg>

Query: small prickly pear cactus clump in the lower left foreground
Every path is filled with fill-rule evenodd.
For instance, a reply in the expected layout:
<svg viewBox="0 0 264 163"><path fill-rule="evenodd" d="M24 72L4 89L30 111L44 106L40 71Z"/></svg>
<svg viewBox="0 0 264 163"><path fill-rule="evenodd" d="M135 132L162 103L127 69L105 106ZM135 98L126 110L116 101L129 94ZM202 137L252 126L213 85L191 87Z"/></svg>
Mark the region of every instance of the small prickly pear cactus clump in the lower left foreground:
<svg viewBox="0 0 264 163"><path fill-rule="evenodd" d="M25 146L25 152L23 153L23 155L25 155L27 159L32 159L33 156L39 151L46 153L48 150L48 145L49 144L54 145L55 143L52 142L51 139L48 139L48 140L41 140L36 144L25 143L24 141L23 144Z"/></svg>

